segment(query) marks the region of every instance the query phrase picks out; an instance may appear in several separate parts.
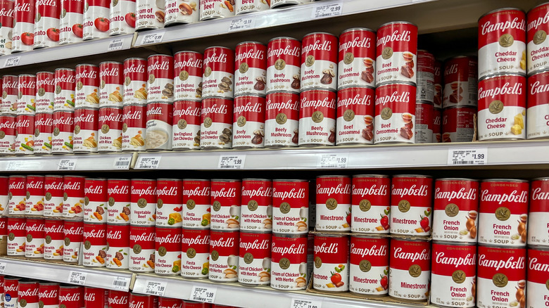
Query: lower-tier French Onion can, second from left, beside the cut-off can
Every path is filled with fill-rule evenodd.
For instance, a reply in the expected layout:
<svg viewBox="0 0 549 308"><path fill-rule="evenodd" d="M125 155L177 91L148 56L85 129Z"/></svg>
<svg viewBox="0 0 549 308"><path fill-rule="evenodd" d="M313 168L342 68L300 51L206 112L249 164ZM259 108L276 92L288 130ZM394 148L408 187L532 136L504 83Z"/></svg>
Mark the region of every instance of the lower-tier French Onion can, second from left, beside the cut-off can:
<svg viewBox="0 0 549 308"><path fill-rule="evenodd" d="M479 245L477 253L477 307L526 307L526 249Z"/></svg>

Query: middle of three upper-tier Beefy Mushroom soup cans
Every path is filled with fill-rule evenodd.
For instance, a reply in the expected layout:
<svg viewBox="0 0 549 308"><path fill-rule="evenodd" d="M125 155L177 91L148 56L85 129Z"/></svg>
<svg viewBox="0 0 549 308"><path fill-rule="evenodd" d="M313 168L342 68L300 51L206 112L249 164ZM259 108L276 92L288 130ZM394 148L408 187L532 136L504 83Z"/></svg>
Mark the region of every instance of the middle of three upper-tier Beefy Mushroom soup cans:
<svg viewBox="0 0 549 308"><path fill-rule="evenodd" d="M275 37L267 45L267 94L284 91L299 94L301 88L301 42Z"/></svg>

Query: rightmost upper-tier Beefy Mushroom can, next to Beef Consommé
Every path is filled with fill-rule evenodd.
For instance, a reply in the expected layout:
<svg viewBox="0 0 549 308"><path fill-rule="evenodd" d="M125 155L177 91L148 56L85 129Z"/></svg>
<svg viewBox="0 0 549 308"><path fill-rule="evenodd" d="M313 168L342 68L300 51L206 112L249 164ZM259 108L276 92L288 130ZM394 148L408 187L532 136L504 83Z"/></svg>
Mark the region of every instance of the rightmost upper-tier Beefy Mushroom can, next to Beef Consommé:
<svg viewBox="0 0 549 308"><path fill-rule="evenodd" d="M322 88L337 90L337 37L311 33L301 41L301 92Z"/></svg>

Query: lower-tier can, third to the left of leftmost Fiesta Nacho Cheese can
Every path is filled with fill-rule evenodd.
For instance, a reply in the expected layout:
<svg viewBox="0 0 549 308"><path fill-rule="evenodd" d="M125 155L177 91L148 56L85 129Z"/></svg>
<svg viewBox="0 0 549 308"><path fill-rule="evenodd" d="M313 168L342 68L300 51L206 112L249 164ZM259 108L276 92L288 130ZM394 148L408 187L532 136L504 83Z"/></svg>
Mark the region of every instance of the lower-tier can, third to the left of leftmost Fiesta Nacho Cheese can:
<svg viewBox="0 0 549 308"><path fill-rule="evenodd" d="M106 231L106 224L84 224L84 235L82 236L82 264L84 267L104 267L106 265Z"/></svg>

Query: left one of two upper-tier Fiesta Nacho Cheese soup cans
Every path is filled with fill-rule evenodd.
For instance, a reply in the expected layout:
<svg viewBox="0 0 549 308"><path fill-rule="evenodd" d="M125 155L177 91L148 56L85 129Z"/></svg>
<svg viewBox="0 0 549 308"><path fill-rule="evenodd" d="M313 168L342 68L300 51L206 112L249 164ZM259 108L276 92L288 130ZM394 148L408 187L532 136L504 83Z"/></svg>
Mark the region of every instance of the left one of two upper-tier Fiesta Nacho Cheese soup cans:
<svg viewBox="0 0 549 308"><path fill-rule="evenodd" d="M182 226L182 193L182 180L156 180L156 226L177 228L180 228Z"/></svg>

